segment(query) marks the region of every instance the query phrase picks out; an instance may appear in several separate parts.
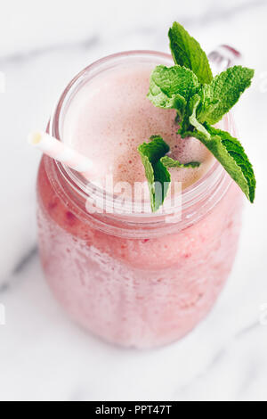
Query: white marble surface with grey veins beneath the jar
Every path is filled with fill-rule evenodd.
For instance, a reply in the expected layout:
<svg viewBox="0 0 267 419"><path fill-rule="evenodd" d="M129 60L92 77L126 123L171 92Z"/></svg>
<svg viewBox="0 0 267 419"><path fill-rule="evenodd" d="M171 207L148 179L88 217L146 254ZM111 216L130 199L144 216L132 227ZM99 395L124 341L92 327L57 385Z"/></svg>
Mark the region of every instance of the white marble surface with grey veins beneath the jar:
<svg viewBox="0 0 267 419"><path fill-rule="evenodd" d="M1 1L1 400L267 400L267 326L260 322L267 303L266 19L261 0ZM45 126L78 70L121 50L167 50L174 20L207 51L235 45L256 69L235 113L255 163L257 196L247 204L239 255L211 315L172 346L121 350L71 324L44 283L36 252L39 156L25 137Z"/></svg>

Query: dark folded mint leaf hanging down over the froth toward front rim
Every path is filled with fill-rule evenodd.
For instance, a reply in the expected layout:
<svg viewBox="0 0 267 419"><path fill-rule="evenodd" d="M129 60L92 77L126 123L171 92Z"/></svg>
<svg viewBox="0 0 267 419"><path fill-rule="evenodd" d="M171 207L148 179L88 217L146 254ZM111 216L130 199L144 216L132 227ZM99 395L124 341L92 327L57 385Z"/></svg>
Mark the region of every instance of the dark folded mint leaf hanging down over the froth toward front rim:
<svg viewBox="0 0 267 419"><path fill-rule="evenodd" d="M141 144L138 152L149 183L151 209L155 212L163 204L171 182L167 168L160 161L170 148L161 136L151 136L150 140L150 143Z"/></svg>

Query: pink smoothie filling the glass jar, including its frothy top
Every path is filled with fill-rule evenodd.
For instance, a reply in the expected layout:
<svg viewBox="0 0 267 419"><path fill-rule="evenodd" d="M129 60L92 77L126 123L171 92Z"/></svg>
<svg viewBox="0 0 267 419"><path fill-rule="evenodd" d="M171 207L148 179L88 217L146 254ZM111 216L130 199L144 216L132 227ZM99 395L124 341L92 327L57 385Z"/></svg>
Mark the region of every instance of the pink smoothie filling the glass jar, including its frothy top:
<svg viewBox="0 0 267 419"><path fill-rule="evenodd" d="M136 150L151 135L163 136L182 162L201 161L172 169L182 182L180 220L89 214L85 178L47 157L37 182L39 248L55 296L77 323L126 347L163 345L197 325L222 290L239 239L238 186L198 140L175 134L174 111L146 99L158 63L172 65L145 52L93 64L62 95L50 132L95 160L98 181L110 173L115 183L144 181ZM232 130L231 119L223 125Z"/></svg>

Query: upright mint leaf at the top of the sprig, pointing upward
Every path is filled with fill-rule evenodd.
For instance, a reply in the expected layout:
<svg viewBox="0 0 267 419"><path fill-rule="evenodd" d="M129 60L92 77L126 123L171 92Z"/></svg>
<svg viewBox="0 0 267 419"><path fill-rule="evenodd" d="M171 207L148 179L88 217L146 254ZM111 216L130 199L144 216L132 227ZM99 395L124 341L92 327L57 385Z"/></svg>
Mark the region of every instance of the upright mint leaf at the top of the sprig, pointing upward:
<svg viewBox="0 0 267 419"><path fill-rule="evenodd" d="M202 84L208 84L213 79L206 53L198 41L190 37L180 23L174 22L169 30L170 48L177 65L192 70Z"/></svg>

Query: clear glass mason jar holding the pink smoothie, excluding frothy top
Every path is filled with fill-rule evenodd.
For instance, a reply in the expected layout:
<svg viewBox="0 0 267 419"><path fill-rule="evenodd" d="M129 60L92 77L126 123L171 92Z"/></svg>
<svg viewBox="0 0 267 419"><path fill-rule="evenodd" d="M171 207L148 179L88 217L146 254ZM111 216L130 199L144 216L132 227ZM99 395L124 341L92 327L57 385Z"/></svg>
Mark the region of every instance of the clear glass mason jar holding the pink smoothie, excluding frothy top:
<svg viewBox="0 0 267 419"><path fill-rule="evenodd" d="M93 63L61 95L48 132L62 140L77 91L100 72L131 61L172 65L169 55L146 51ZM230 115L223 125L234 135ZM65 165L41 160L39 251L54 295L79 325L106 341L151 348L182 338L213 307L231 272L241 225L238 186L216 161L182 192L182 204L168 217L88 212L88 198L96 193L91 186Z"/></svg>

